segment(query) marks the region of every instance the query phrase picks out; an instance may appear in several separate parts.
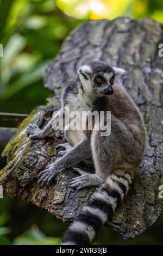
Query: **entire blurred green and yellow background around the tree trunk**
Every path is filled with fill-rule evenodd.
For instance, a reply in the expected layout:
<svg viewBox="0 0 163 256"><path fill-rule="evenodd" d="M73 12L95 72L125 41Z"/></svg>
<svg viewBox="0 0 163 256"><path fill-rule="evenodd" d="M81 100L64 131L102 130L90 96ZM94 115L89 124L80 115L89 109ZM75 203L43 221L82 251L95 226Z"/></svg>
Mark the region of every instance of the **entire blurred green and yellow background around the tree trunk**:
<svg viewBox="0 0 163 256"><path fill-rule="evenodd" d="M43 70L62 41L89 19L135 19L163 22L160 0L0 0L0 112L29 113L52 93L43 88ZM67 227L46 210L23 200L0 199L0 245L57 245ZM103 228L98 245L163 245L163 215L145 233L125 241Z"/></svg>

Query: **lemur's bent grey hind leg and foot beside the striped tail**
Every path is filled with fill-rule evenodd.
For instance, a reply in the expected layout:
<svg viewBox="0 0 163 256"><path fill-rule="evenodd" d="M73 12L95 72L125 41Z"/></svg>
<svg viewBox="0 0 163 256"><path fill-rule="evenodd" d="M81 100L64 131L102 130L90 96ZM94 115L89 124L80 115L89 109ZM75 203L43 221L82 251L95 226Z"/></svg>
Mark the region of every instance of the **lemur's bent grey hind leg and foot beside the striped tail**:
<svg viewBox="0 0 163 256"><path fill-rule="evenodd" d="M128 154L129 152L132 153L134 139L126 126L117 119L112 118L111 128L109 136L102 136L100 129L93 129L91 150L96 172L89 174L76 169L81 176L72 180L72 187L80 189L88 186L99 186L116 168L121 168L126 163L129 164L128 160L131 159Z"/></svg>

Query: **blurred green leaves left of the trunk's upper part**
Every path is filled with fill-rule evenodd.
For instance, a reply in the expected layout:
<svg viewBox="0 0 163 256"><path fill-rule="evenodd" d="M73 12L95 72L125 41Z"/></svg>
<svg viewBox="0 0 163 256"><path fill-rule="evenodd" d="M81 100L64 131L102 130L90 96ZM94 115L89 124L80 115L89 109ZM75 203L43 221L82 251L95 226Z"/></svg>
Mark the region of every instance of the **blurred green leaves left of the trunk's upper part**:
<svg viewBox="0 0 163 256"><path fill-rule="evenodd" d="M45 103L51 93L43 88L43 71L78 23L63 15L54 0L0 1L1 111L29 113ZM29 91L34 101L26 99Z"/></svg>

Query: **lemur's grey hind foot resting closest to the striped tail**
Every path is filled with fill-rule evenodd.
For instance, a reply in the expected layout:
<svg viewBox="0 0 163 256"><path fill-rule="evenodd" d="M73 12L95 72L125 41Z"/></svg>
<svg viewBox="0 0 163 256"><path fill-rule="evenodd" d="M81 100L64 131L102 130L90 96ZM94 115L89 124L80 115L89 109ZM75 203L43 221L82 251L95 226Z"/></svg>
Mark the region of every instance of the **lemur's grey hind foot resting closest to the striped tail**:
<svg viewBox="0 0 163 256"><path fill-rule="evenodd" d="M84 187L91 187L91 186L100 186L102 184L102 180L99 179L95 174L90 174L81 170L79 168L73 168L81 174L81 176L75 177L71 180L71 187L76 187L77 190L81 190Z"/></svg>

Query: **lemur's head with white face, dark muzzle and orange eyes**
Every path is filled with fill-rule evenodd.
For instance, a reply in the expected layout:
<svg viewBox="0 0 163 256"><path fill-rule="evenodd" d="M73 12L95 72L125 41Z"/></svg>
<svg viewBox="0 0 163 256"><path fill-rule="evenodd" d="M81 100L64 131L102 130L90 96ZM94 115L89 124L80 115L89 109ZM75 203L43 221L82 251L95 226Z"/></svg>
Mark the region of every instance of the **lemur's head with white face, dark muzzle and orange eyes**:
<svg viewBox="0 0 163 256"><path fill-rule="evenodd" d="M90 62L80 67L80 80L83 88L88 93L96 93L99 95L111 95L114 93L115 76L126 72L120 68L112 68L103 62Z"/></svg>

